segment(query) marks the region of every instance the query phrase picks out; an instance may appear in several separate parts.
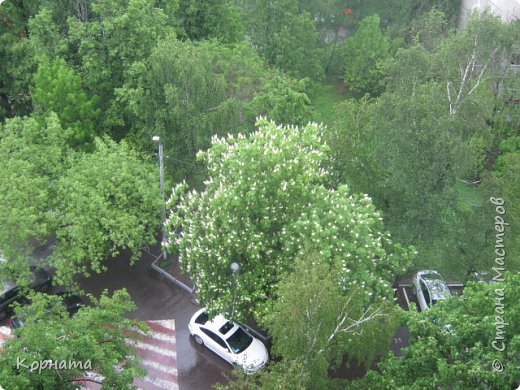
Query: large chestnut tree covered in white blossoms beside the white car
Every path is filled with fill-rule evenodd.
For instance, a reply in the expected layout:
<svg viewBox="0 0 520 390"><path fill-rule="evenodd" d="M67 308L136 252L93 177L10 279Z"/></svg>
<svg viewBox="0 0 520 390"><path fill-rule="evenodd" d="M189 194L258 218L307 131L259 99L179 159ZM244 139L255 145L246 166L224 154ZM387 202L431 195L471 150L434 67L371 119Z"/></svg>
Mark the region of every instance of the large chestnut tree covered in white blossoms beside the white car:
<svg viewBox="0 0 520 390"><path fill-rule="evenodd" d="M169 200L167 245L200 302L213 314L264 318L281 273L308 252L340 270L345 290L366 291L367 303L391 295L411 253L392 244L367 195L327 187L323 126L256 125L247 137L214 137L198 154L209 174L204 190L180 184Z"/></svg>

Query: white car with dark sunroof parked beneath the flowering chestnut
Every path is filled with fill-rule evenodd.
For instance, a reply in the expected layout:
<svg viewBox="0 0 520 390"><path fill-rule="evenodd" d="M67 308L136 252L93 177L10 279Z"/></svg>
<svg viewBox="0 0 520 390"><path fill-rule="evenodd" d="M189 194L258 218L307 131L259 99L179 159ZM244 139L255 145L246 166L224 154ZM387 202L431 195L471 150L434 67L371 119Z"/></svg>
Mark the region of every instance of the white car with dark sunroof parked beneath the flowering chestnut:
<svg viewBox="0 0 520 390"><path fill-rule="evenodd" d="M200 309L191 317L188 329L198 344L241 367L246 374L254 374L269 360L267 348L260 340L220 314L210 321L206 309Z"/></svg>

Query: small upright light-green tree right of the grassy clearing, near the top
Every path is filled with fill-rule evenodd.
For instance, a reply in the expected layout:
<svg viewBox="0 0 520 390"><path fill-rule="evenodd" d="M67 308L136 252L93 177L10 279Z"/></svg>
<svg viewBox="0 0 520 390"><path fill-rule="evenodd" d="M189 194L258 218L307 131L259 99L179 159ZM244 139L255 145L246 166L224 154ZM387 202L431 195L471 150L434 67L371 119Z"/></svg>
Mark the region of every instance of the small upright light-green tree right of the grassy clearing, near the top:
<svg viewBox="0 0 520 390"><path fill-rule="evenodd" d="M342 47L345 85L360 95L378 95L383 90L385 65L392 45L383 35L380 23L377 15L363 19Z"/></svg>

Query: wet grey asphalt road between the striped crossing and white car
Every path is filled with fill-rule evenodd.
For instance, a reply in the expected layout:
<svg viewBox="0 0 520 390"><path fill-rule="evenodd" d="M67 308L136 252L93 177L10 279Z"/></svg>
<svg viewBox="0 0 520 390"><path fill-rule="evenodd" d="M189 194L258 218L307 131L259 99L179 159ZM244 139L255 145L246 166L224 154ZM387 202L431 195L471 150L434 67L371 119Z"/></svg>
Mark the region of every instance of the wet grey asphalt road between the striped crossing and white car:
<svg viewBox="0 0 520 390"><path fill-rule="evenodd" d="M224 383L231 365L204 347L197 345L188 332L188 323L200 306L186 291L163 279L150 268L151 255L145 254L134 266L128 256L107 261L108 271L80 280L94 295L126 288L138 309L129 317L140 320L174 319L177 342L177 369L181 390L207 390Z"/></svg>

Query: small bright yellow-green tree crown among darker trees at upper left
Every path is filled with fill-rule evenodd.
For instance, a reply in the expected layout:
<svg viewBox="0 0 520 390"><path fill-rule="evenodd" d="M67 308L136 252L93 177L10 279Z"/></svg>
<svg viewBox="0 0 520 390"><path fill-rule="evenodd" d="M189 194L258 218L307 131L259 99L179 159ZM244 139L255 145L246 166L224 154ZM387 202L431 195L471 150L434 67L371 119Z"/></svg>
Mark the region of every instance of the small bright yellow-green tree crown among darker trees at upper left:
<svg viewBox="0 0 520 390"><path fill-rule="evenodd" d="M81 78L63 59L44 61L34 76L32 98L36 111L53 111L65 128L71 146L92 140L99 110L82 90Z"/></svg>

